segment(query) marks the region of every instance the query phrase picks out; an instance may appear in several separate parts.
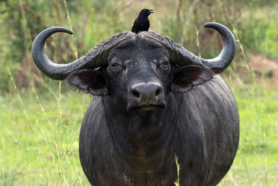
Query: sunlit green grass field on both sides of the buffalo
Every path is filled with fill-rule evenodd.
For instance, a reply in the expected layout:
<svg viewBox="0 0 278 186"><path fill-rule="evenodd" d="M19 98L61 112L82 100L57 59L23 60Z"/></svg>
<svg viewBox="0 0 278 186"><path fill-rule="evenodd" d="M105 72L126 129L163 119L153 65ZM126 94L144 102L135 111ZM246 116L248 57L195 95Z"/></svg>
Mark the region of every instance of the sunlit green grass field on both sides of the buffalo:
<svg viewBox="0 0 278 186"><path fill-rule="evenodd" d="M89 185L79 162L79 131L92 97L51 84L0 96L0 185ZM219 185L278 185L278 86L230 86L240 144Z"/></svg>

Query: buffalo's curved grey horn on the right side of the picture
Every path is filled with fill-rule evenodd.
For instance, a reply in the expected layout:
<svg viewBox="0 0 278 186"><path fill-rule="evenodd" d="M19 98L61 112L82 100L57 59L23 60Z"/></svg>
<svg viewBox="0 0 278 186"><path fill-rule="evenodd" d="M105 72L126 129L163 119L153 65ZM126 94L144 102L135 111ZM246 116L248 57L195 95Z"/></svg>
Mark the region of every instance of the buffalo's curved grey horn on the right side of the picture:
<svg viewBox="0 0 278 186"><path fill-rule="evenodd" d="M217 30L222 36L223 48L222 52L214 59L202 59L196 56L192 52L189 52L183 46L174 42L171 38L165 36L159 36L158 34L152 32L147 38L152 38L161 45L167 47L170 53L171 63L177 65L203 65L206 68L211 69L215 73L221 73L225 70L231 61L234 59L236 53L236 40L233 33L227 29L226 26L222 24L209 22L204 24L206 28L213 28ZM143 33L142 33L143 34Z"/></svg>

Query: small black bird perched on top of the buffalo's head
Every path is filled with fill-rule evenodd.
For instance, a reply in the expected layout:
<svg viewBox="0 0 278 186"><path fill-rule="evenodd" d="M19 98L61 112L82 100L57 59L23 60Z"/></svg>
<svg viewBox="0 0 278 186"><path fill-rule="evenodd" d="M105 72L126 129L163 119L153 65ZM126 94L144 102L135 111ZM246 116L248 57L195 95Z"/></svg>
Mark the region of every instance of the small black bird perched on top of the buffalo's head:
<svg viewBox="0 0 278 186"><path fill-rule="evenodd" d="M153 13L154 10L152 9L142 9L133 22L133 26L131 31L134 33L139 33L140 31L148 31L149 30L149 19L148 16Z"/></svg>

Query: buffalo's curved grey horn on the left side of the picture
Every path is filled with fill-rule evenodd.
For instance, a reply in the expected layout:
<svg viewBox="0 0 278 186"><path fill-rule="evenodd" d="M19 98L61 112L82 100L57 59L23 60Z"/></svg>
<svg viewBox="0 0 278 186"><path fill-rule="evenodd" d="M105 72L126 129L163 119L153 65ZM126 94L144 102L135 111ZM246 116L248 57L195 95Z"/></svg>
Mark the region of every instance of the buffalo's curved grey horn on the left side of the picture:
<svg viewBox="0 0 278 186"><path fill-rule="evenodd" d="M113 45L116 45L120 38L126 36L126 32L124 33L116 33L111 38L108 38L104 42L101 42L99 45L90 50L87 54L82 56L76 61L72 61L68 64L57 64L50 61L47 55L44 52L44 44L52 34L56 32L65 32L72 34L73 32L69 29L54 26L49 29L45 29L40 32L38 36L35 38L32 45L32 55L35 64L38 66L45 75L50 77L51 79L63 80L73 72L74 70L81 70L85 68L95 69L101 65L107 65L108 60L106 58L107 52Z"/></svg>

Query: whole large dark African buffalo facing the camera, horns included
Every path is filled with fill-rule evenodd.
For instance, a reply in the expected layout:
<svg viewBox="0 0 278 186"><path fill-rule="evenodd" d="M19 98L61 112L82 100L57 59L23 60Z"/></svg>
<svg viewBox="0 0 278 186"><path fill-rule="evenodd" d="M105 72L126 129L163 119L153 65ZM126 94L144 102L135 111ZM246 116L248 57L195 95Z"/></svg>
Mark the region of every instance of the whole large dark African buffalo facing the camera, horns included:
<svg viewBox="0 0 278 186"><path fill-rule="evenodd" d="M83 119L80 160L92 185L216 185L238 148L236 101L218 75L234 59L225 26L204 25L223 39L215 59L202 59L154 31L115 33L80 59L56 64L44 53L51 27L35 38L35 64L93 97ZM98 68L97 70L95 70Z"/></svg>

